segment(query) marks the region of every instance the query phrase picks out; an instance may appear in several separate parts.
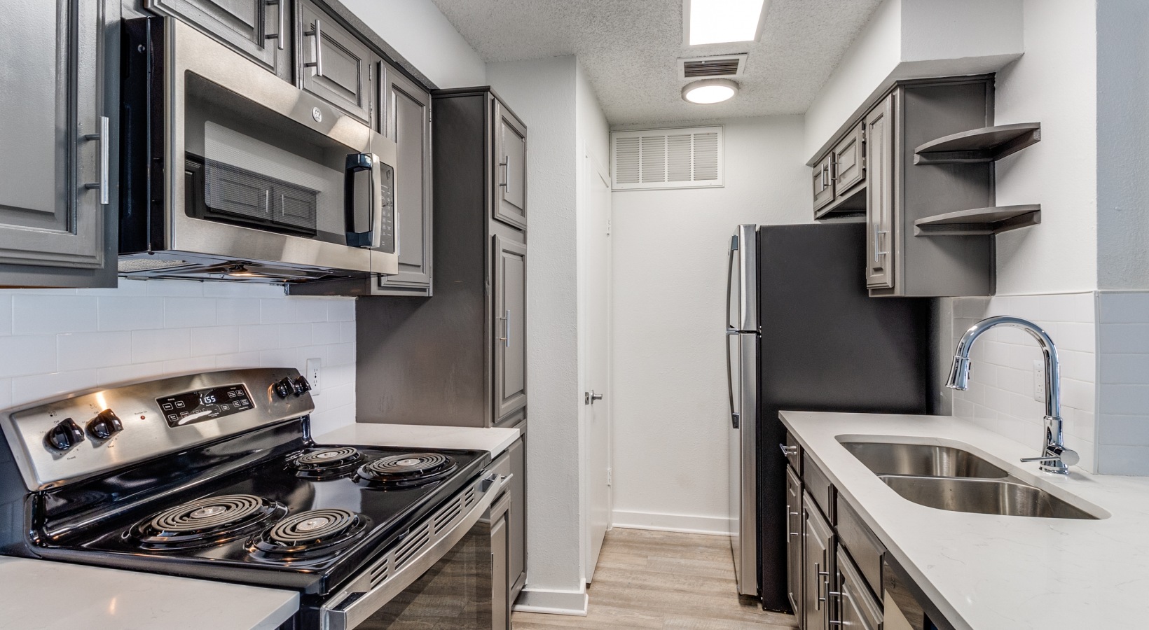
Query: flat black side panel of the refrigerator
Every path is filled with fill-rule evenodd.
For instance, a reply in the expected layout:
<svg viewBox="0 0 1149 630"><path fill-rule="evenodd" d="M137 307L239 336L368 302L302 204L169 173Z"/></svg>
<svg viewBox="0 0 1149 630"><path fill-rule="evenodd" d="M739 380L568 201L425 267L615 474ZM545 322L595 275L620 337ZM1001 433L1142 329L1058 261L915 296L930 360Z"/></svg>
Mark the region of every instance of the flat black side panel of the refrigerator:
<svg viewBox="0 0 1149 630"><path fill-rule="evenodd" d="M869 297L865 225L758 231L762 602L787 610L781 410L930 412L930 302Z"/></svg>

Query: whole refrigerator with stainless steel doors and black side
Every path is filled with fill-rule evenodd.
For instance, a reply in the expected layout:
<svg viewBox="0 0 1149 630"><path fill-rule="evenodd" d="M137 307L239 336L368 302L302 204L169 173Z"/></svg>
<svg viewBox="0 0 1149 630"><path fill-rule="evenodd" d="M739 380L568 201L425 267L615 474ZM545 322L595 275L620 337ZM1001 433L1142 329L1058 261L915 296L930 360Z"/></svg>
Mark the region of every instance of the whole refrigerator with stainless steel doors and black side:
<svg viewBox="0 0 1149 630"><path fill-rule="evenodd" d="M788 610L781 410L931 413L932 302L870 297L865 225L739 225L730 242L731 549L741 594Z"/></svg>

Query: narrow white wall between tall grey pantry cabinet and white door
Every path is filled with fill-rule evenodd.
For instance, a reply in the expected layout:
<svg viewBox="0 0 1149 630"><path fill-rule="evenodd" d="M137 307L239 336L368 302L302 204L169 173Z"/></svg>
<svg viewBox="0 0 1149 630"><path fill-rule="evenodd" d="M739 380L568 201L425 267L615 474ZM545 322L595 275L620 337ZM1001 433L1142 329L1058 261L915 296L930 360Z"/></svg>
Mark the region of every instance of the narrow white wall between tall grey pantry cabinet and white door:
<svg viewBox="0 0 1149 630"><path fill-rule="evenodd" d="M577 73L573 56L487 67L492 87L526 124L530 147L527 597L565 593L571 596L565 601L585 606L579 527Z"/></svg>

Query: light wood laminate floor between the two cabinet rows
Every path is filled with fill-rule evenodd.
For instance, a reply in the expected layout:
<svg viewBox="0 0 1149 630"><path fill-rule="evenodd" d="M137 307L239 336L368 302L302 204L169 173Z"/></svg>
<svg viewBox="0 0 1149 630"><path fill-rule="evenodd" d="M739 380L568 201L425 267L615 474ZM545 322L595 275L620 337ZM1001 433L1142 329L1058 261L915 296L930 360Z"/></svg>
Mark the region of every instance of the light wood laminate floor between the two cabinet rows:
<svg viewBox="0 0 1149 630"><path fill-rule="evenodd" d="M585 617L515 613L514 630L784 630L792 615L742 601L730 538L616 528L607 532L587 588Z"/></svg>

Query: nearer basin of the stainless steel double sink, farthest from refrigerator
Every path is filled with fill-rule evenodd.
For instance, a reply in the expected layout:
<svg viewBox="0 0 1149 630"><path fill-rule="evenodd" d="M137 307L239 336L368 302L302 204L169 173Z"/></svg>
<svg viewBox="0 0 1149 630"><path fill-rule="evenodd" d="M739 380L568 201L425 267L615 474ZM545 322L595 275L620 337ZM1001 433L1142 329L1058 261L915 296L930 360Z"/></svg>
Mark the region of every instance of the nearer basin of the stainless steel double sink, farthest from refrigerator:
<svg viewBox="0 0 1149 630"><path fill-rule="evenodd" d="M902 497L938 510L1046 519L1097 519L1044 490L1011 480L878 476Z"/></svg>

